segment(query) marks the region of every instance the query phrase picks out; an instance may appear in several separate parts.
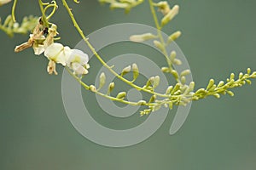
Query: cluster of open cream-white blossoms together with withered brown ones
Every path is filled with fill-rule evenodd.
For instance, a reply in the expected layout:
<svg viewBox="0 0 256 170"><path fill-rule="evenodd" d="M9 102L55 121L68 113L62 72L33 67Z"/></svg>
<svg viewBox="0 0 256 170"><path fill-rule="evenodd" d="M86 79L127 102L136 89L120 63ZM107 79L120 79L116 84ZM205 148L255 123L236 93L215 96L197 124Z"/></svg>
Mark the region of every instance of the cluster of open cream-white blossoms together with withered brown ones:
<svg viewBox="0 0 256 170"><path fill-rule="evenodd" d="M88 55L79 49L71 49L67 46L64 47L61 43L54 42L57 35L57 26L54 24L51 24L50 27L44 26L40 19L28 41L16 46L15 52L32 47L36 55L44 53L44 56L49 59L47 66L49 74L58 74L55 69L56 64L69 67L76 75L87 74L87 69L90 68Z"/></svg>

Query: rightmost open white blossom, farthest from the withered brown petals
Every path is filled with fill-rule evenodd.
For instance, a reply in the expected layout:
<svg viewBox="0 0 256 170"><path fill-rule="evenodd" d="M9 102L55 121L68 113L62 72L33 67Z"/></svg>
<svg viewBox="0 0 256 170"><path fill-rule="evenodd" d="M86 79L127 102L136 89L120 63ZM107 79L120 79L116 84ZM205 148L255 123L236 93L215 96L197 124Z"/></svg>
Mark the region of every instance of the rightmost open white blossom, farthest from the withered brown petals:
<svg viewBox="0 0 256 170"><path fill-rule="evenodd" d="M76 75L87 74L87 69L90 68L88 65L88 55L84 54L83 51L79 49L71 49L69 58L67 59L67 66L74 71Z"/></svg>

